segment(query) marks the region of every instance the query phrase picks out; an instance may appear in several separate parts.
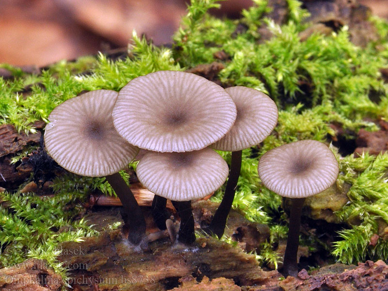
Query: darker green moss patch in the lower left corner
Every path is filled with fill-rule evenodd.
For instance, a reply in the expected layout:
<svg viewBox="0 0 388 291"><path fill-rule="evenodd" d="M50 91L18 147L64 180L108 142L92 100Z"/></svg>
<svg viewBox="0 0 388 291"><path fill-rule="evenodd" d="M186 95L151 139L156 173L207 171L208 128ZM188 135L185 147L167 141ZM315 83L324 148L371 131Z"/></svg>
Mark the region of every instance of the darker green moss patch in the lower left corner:
<svg viewBox="0 0 388 291"><path fill-rule="evenodd" d="M56 262L58 244L96 235L85 221L72 220L81 210L79 201L84 200L84 191L81 187L68 187L57 191L54 197L1 194L0 199L7 204L7 208L0 207L1 266L11 266L29 257L47 259L65 276L66 270Z"/></svg>

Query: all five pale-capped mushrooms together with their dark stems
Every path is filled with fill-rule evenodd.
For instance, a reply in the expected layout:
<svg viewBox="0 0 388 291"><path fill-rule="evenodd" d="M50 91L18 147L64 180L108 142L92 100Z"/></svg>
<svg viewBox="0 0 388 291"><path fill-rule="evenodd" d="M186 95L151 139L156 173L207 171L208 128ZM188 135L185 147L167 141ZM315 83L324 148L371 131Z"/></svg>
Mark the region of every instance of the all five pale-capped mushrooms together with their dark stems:
<svg viewBox="0 0 388 291"><path fill-rule="evenodd" d="M44 140L49 155L70 172L106 177L123 203L129 241L146 232L143 213L118 171L138 154L137 176L155 194L157 226L171 224L170 199L180 217L178 241L195 241L191 200L217 190L224 198L206 231L223 235L240 176L242 150L261 143L277 123L275 102L242 86L223 89L191 73L158 71L135 78L119 93L91 91L69 99L49 115ZM230 169L214 150L232 152ZM305 197L330 187L339 173L323 143L298 141L266 152L258 165L263 184L293 199L284 275L296 275L301 210Z"/></svg>

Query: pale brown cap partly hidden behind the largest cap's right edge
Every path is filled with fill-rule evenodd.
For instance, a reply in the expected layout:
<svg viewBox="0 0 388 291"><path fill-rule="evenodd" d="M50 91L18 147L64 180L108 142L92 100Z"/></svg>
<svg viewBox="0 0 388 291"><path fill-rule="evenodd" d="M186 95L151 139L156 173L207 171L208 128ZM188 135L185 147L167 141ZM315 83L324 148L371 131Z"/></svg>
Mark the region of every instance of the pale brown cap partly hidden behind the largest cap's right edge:
<svg viewBox="0 0 388 291"><path fill-rule="evenodd" d="M238 151L258 145L274 130L277 123L275 102L264 93L243 86L226 88L237 107L232 128L213 148Z"/></svg>

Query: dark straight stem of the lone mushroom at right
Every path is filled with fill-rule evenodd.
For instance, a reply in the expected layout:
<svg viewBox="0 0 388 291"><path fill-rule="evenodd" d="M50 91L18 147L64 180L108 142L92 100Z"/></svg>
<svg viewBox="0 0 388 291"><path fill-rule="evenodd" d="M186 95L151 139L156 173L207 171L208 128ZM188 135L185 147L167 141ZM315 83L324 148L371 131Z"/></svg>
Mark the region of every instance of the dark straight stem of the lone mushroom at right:
<svg viewBox="0 0 388 291"><path fill-rule="evenodd" d="M299 247L300 220L304 203L305 198L291 199L290 228L283 260L283 275L285 277L295 277L298 275L297 253Z"/></svg>

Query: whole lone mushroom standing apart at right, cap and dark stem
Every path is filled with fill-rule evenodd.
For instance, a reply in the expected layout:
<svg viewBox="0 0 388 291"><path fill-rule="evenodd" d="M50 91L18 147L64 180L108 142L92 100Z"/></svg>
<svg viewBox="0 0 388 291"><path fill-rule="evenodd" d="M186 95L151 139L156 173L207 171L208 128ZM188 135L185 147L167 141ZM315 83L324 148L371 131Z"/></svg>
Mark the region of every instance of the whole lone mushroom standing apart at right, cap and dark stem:
<svg viewBox="0 0 388 291"><path fill-rule="evenodd" d="M290 228L283 260L283 275L296 276L301 212L305 198L321 193L336 181L339 166L323 143L303 140L266 152L259 161L259 177L265 187L291 198Z"/></svg>

